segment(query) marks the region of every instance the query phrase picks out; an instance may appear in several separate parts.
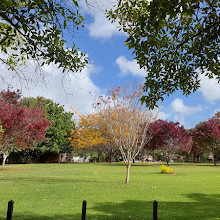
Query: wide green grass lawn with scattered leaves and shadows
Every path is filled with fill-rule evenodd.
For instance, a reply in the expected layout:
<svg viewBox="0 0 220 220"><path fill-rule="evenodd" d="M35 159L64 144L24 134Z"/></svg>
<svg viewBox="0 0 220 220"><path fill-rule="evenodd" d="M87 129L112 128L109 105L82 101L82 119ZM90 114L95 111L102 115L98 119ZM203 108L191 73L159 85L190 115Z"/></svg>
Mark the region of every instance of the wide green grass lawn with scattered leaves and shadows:
<svg viewBox="0 0 220 220"><path fill-rule="evenodd" d="M220 219L220 166L135 164L124 184L123 164L30 164L0 167L0 219L14 200L13 220L74 220L87 201L87 219Z"/></svg>

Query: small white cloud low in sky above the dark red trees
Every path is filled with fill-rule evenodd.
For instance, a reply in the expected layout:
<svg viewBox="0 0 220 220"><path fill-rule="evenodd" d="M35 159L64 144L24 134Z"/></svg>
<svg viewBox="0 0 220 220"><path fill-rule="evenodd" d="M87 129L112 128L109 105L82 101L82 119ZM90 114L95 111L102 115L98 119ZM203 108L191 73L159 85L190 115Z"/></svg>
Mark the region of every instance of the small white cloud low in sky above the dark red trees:
<svg viewBox="0 0 220 220"><path fill-rule="evenodd" d="M201 111L202 107L201 106L196 106L196 107L187 106L183 103L182 99L177 98L171 103L171 109L172 111L181 113L182 115L191 115L191 114Z"/></svg>

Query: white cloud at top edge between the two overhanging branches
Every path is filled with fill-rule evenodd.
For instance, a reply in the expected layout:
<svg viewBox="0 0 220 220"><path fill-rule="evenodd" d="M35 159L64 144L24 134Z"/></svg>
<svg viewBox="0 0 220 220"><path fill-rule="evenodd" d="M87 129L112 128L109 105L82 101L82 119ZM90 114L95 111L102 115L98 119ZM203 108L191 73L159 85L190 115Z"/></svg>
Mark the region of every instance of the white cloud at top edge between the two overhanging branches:
<svg viewBox="0 0 220 220"><path fill-rule="evenodd" d="M89 35L91 37L99 37L109 39L115 35L124 35L123 31L117 28L118 23L111 23L107 18L105 11L114 7L113 1L107 0L90 0L81 1L80 7L82 13L88 14L92 17L93 22L88 24Z"/></svg>

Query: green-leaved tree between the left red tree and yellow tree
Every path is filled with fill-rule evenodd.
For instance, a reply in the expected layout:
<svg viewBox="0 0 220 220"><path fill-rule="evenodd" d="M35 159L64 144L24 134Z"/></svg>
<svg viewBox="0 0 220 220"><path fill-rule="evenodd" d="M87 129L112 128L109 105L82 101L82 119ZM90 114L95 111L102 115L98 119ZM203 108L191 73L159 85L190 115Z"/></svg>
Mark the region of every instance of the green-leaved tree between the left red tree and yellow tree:
<svg viewBox="0 0 220 220"><path fill-rule="evenodd" d="M51 123L45 140L38 144L37 149L42 152L71 153L73 149L69 145L67 137L70 135L70 129L75 129L75 122L72 119L73 113L65 112L63 106L43 97L24 98L23 104L30 107L41 106L44 108L47 119Z"/></svg>

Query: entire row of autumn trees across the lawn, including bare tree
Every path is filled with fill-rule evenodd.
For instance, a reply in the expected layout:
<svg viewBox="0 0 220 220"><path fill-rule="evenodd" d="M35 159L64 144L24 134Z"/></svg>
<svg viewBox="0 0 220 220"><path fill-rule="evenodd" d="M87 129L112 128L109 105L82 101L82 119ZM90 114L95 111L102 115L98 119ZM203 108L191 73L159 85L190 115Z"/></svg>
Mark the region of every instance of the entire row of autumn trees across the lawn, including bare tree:
<svg viewBox="0 0 220 220"><path fill-rule="evenodd" d="M94 102L94 114L81 117L78 127L73 113L43 97L21 98L19 91L2 91L0 96L3 165L15 149L72 153L74 149L105 153L108 161L120 157L126 164L126 183L132 161L140 152L161 152L169 164L178 153L211 153L216 164L220 154L219 113L195 128L157 120L157 111L140 104L142 86L128 83L111 89Z"/></svg>

